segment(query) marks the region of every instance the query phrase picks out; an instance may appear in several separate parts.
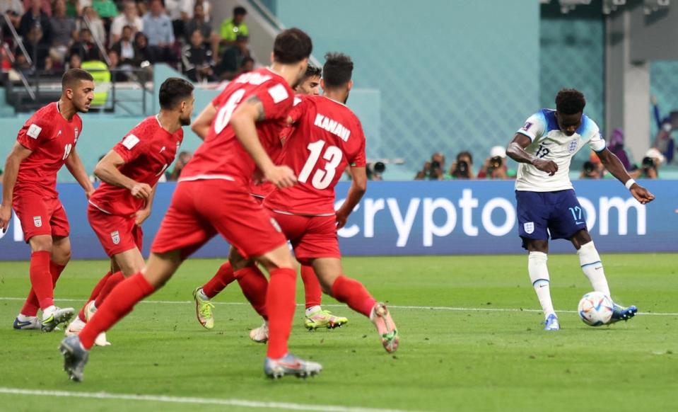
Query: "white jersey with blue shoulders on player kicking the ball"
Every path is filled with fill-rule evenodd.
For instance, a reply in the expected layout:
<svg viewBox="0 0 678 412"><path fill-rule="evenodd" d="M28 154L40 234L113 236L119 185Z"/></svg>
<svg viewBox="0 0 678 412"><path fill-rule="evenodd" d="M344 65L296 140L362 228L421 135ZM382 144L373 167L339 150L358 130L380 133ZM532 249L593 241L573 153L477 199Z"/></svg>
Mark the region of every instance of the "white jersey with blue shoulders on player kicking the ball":
<svg viewBox="0 0 678 412"><path fill-rule="evenodd" d="M572 136L561 132L556 120L556 110L542 109L530 116L518 133L530 137L532 143L525 148L527 153L539 159L552 160L558 165L554 176L540 171L531 164L518 166L515 190L529 192L555 192L572 188L570 181L570 162L583 146L588 143L595 151L605 149L605 141L600 137L598 126L590 118L582 115L581 125Z"/></svg>

